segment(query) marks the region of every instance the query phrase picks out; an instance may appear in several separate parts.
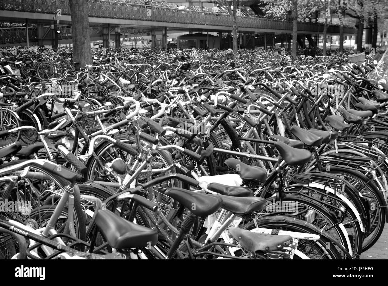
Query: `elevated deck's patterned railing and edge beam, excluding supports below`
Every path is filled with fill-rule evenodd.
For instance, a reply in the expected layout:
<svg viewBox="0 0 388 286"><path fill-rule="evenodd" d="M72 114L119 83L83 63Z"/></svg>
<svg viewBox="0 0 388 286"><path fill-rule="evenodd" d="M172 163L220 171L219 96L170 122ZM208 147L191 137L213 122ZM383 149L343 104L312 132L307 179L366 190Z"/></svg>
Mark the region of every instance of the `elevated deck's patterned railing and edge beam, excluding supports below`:
<svg viewBox="0 0 388 286"><path fill-rule="evenodd" d="M178 10L158 6L93 0L88 2L91 26L149 28L184 31L230 31L232 20L229 15ZM23 21L30 23L52 23L58 16L61 24L71 24L68 0L0 0L0 21ZM238 17L242 33L291 32L292 23L259 17ZM298 33L322 33L323 25L298 23ZM327 33L339 33L338 26L330 26ZM344 28L345 34L353 34L353 28Z"/></svg>

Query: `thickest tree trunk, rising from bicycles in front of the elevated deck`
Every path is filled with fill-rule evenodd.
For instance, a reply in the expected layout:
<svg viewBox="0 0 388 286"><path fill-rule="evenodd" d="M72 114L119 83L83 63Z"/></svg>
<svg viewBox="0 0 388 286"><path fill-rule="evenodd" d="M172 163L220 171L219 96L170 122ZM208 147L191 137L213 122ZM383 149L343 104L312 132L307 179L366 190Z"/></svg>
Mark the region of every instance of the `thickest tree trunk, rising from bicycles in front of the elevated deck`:
<svg viewBox="0 0 388 286"><path fill-rule="evenodd" d="M73 36L73 62L82 68L92 62L90 53L89 11L86 0L69 0Z"/></svg>

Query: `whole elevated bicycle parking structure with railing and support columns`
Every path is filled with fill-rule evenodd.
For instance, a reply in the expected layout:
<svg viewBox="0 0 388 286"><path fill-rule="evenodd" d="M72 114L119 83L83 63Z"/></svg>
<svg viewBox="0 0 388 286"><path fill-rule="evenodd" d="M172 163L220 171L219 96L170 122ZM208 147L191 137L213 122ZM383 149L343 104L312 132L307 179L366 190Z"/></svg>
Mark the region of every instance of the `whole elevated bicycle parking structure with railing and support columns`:
<svg viewBox="0 0 388 286"><path fill-rule="evenodd" d="M116 39L144 33L155 37L160 33L165 41L167 31L230 32L232 19L227 14L194 10L179 10L161 6L140 5L112 0L91 0L89 24L91 40ZM26 43L57 45L71 42L71 15L68 0L0 0L0 21L25 23L30 28L0 28L0 45ZM239 33L291 34L292 23L260 17L238 17ZM322 33L323 24L298 23L298 34ZM60 33L58 33L58 31ZM171 33L170 32L170 33ZM353 28L344 28L353 35ZM329 26L328 34L338 34L338 26ZM128 36L127 36L128 37Z"/></svg>

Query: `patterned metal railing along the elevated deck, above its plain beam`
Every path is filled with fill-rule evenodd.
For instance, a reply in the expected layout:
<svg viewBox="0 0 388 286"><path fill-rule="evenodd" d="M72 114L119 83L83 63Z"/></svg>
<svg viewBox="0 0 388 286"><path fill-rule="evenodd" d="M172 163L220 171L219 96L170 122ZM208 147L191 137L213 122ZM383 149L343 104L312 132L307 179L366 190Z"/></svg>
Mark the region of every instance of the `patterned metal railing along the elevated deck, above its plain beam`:
<svg viewBox="0 0 388 286"><path fill-rule="evenodd" d="M88 5L89 17L224 27L232 26L232 19L227 14L179 10L107 0L90 0ZM60 11L62 15L70 15L68 0L0 0L0 10L46 14L57 14ZM259 17L238 17L238 26L240 28L292 30L291 22ZM312 33L322 32L323 24L298 23L298 30Z"/></svg>

